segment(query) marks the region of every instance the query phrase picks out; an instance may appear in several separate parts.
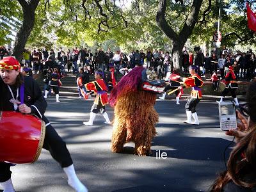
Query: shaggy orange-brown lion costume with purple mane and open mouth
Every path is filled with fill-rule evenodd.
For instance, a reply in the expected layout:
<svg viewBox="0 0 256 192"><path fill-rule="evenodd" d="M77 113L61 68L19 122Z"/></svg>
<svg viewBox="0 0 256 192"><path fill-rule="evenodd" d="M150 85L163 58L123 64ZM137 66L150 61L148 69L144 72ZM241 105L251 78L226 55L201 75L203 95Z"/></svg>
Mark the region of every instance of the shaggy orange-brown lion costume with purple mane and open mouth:
<svg viewBox="0 0 256 192"><path fill-rule="evenodd" d="M115 106L112 152L122 152L124 144L131 141L135 154L150 154L152 138L157 134L156 93L164 90L164 81L155 79L156 73L135 67L113 88L109 99Z"/></svg>

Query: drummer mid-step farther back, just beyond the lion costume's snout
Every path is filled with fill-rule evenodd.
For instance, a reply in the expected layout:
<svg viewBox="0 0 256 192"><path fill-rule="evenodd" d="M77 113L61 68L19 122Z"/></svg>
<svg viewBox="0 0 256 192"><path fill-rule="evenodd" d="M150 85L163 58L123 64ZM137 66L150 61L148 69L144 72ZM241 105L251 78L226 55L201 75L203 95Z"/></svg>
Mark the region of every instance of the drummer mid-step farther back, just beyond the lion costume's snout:
<svg viewBox="0 0 256 192"><path fill-rule="evenodd" d="M169 75L168 75L169 74ZM164 93L162 95L162 97L159 97L159 99L163 99L165 98L166 92L168 92L169 90L175 90L177 88L179 88L180 83L179 83L179 73L177 72L177 70L173 70L172 74L170 74L170 72L167 73L167 76L165 78L165 81L169 81L170 84L168 84L165 88L164 88ZM182 90L177 90L175 91L175 95L176 95L176 104L179 105L179 100L180 100L180 96L182 95Z"/></svg>

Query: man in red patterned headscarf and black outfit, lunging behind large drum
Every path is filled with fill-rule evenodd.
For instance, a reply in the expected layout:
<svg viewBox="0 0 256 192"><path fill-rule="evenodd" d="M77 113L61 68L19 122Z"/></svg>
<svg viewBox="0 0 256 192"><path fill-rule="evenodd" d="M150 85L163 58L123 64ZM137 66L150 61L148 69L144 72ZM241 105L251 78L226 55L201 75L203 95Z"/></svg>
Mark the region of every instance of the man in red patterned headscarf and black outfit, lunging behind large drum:
<svg viewBox="0 0 256 192"><path fill-rule="evenodd" d="M68 184L73 189L76 191L88 191L77 178L66 143L44 116L47 103L36 81L32 77L22 76L20 73L20 63L13 57L6 57L0 60L0 75L0 110L18 111L42 118L46 127L43 148L49 150L52 157L60 163L60 166L67 174ZM21 86L24 89L21 89ZM20 104L19 100L22 100L23 96L24 104ZM10 163L0 162L0 186L4 191L8 192L14 191L10 166Z"/></svg>

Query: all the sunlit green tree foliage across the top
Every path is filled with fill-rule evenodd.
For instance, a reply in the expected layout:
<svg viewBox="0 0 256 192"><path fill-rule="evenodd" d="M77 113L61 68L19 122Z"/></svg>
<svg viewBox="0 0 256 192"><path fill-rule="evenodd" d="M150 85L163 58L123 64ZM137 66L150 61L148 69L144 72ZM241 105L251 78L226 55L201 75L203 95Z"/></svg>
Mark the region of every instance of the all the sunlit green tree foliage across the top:
<svg viewBox="0 0 256 192"><path fill-rule="evenodd" d="M35 27L29 36L26 47L93 47L93 49L107 47L112 49L170 49L172 40L156 26L156 12L159 1L138 0L132 1L131 8L124 8L123 1L100 1L102 13L94 0L52 0L45 6L45 1L40 1L36 9ZM252 35L247 28L245 1L225 0L212 1L211 12L205 17L205 23L195 26L189 42L201 45L212 42L212 35L218 21L218 6L221 6L221 28L224 36L222 45L232 47L239 38L229 33L236 32L242 39ZM172 29L179 33L190 11L192 0L185 0L184 4L168 1L166 7L166 20ZM204 1L200 9L202 20L208 1ZM122 7L122 8L121 8ZM86 10L84 9L86 8ZM13 31L18 31L22 23L22 8L17 0L2 0L0 2L0 42L9 43ZM125 25L125 21L127 25ZM10 24L6 24L6 23ZM100 24L100 22L102 22ZM99 25L101 30L99 30ZM107 26L108 25L108 26ZM255 35L246 42L239 44L255 44ZM240 40L241 41L241 40ZM113 48L115 47L115 48Z"/></svg>

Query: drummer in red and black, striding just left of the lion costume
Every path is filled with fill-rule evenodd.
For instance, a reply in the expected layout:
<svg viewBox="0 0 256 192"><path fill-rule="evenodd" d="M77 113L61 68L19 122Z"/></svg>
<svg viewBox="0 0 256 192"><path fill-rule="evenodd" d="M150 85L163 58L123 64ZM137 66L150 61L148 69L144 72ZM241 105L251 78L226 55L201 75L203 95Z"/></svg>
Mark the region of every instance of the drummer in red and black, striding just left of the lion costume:
<svg viewBox="0 0 256 192"><path fill-rule="evenodd" d="M88 91L92 91L94 93L97 93L96 99L94 100L91 113L90 113L90 120L88 122L83 122L84 125L92 126L93 121L96 117L97 113L101 113L106 122L105 124L111 124L108 118L108 113L106 112L105 106L108 104L108 87L106 86L106 83L102 79L103 72L102 70L96 70L94 73L95 81L92 81L90 83L85 84L85 88ZM86 93L86 95L90 95L90 93Z"/></svg>

